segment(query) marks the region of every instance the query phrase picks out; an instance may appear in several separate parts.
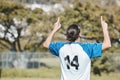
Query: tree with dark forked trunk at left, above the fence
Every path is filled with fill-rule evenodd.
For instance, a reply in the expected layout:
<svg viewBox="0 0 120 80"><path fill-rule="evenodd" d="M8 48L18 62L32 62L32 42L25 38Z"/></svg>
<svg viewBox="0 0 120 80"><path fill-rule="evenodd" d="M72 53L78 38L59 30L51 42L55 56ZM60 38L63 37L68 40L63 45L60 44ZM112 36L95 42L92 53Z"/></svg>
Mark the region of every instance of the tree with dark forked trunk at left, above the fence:
<svg viewBox="0 0 120 80"><path fill-rule="evenodd" d="M23 4L0 1L0 44L1 50L23 51L20 40L30 25L41 19L42 10L30 10ZM32 37L31 37L32 38Z"/></svg>

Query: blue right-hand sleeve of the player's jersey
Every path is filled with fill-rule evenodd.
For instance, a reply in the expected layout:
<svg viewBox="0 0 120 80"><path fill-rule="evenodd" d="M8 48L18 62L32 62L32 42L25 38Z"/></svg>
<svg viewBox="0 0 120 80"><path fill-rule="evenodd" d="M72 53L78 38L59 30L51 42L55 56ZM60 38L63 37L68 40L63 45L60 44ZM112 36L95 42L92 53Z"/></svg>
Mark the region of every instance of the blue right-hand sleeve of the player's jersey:
<svg viewBox="0 0 120 80"><path fill-rule="evenodd" d="M102 43L87 43L83 45L83 49L90 58L102 56Z"/></svg>

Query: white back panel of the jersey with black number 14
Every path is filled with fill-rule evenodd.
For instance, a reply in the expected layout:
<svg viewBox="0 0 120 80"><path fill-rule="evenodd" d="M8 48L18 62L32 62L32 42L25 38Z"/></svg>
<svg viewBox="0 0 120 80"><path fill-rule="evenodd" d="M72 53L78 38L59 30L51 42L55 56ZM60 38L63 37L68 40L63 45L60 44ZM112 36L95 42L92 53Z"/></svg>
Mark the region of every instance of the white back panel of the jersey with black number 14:
<svg viewBox="0 0 120 80"><path fill-rule="evenodd" d="M79 44L65 44L59 52L61 80L90 80L91 61Z"/></svg>

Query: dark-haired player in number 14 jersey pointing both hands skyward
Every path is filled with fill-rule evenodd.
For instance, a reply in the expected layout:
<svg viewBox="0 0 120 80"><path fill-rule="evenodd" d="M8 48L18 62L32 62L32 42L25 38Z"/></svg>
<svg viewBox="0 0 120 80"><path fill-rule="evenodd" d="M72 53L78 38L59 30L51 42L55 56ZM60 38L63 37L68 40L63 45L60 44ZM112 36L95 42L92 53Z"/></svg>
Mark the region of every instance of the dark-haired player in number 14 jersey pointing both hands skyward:
<svg viewBox="0 0 120 80"><path fill-rule="evenodd" d="M102 56L102 50L111 47L108 25L102 16L101 26L104 34L102 43L81 43L80 28L76 24L70 25L66 30L67 42L52 42L55 33L61 28L58 18L43 46L60 58L61 80L90 80L90 59Z"/></svg>

